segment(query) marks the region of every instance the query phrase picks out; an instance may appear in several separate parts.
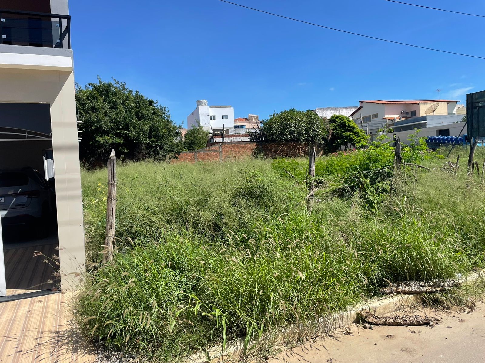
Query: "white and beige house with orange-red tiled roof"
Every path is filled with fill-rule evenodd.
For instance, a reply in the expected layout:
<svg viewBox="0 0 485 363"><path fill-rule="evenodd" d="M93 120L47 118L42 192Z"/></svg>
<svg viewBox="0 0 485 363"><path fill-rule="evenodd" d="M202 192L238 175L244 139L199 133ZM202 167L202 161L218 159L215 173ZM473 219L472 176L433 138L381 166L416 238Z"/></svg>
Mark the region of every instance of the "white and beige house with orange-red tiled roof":
<svg viewBox="0 0 485 363"><path fill-rule="evenodd" d="M351 117L359 126L375 134L379 129L393 127L397 121L427 115L455 115L455 100L372 100L359 101Z"/></svg>

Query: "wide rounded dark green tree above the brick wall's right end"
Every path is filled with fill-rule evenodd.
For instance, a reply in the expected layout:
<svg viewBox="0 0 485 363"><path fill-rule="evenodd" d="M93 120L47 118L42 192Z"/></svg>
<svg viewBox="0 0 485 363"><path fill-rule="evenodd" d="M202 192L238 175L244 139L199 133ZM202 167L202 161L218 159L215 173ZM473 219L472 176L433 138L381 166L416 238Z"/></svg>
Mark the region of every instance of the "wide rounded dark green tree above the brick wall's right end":
<svg viewBox="0 0 485 363"><path fill-rule="evenodd" d="M274 113L263 122L261 134L266 141L296 141L300 143L325 143L329 126L325 118L314 111L295 108Z"/></svg>

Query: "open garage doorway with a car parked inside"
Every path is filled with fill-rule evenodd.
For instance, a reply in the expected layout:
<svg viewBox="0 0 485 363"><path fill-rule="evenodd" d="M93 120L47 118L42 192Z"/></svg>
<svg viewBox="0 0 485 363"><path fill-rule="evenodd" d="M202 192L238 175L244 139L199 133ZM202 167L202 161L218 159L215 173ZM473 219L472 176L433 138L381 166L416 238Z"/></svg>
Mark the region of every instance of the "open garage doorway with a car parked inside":
<svg viewBox="0 0 485 363"><path fill-rule="evenodd" d="M49 104L0 103L0 153L1 252L7 296L58 289Z"/></svg>

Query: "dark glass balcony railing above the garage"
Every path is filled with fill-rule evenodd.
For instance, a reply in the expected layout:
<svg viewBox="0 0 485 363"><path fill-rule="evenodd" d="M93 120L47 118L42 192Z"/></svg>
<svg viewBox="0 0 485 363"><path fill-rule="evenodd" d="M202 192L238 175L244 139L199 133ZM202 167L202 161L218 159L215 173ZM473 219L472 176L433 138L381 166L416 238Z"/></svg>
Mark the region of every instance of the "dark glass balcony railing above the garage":
<svg viewBox="0 0 485 363"><path fill-rule="evenodd" d="M69 15L0 9L0 44L71 48Z"/></svg>

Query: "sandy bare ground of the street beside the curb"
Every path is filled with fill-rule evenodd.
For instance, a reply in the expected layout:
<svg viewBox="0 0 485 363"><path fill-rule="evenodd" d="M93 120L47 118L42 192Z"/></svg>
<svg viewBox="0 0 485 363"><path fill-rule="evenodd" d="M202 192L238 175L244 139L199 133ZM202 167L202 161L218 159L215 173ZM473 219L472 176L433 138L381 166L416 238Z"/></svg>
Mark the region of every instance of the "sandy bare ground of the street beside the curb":
<svg viewBox="0 0 485 363"><path fill-rule="evenodd" d="M485 363L485 303L470 311L434 311L413 314L440 318L439 325L390 327L372 330L354 324L286 350L269 363Z"/></svg>

